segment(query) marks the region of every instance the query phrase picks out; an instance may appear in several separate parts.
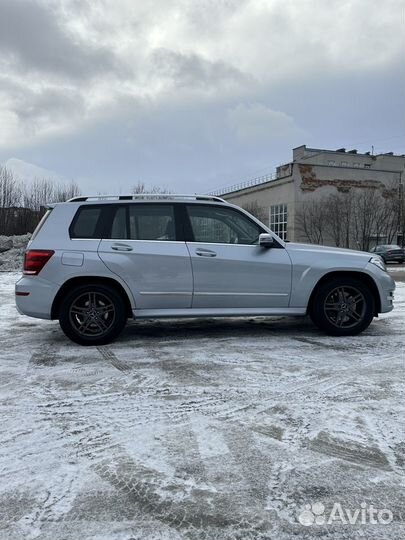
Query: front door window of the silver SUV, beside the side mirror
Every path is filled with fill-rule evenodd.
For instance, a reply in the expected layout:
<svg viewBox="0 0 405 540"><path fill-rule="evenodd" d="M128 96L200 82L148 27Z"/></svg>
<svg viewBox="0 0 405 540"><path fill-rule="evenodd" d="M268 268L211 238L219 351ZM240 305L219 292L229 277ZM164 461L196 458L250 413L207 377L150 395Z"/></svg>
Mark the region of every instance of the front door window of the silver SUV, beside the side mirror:
<svg viewBox="0 0 405 540"><path fill-rule="evenodd" d="M263 231L248 217L231 208L187 207L195 242L257 244Z"/></svg>

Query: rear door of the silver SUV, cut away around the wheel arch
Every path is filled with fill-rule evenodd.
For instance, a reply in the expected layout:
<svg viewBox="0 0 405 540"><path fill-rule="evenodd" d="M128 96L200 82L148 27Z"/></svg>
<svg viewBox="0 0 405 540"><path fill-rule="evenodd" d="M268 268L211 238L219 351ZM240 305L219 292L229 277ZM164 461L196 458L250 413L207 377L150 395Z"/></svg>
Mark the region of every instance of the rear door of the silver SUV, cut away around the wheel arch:
<svg viewBox="0 0 405 540"><path fill-rule="evenodd" d="M191 262L175 204L115 205L108 237L99 256L128 284L136 309L191 307Z"/></svg>

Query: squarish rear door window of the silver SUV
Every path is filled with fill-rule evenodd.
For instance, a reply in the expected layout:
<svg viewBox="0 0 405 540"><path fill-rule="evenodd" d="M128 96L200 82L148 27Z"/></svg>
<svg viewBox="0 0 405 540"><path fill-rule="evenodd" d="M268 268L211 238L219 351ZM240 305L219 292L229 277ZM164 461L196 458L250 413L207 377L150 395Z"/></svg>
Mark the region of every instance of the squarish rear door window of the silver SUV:
<svg viewBox="0 0 405 540"><path fill-rule="evenodd" d="M174 208L170 204L132 204L129 206L131 240L176 240Z"/></svg>

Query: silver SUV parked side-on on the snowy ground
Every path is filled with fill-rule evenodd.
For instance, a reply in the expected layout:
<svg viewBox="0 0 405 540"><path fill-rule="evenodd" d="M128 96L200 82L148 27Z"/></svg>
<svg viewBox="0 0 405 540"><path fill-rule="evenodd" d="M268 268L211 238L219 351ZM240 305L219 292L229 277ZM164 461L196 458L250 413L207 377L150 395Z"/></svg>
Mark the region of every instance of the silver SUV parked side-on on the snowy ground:
<svg viewBox="0 0 405 540"><path fill-rule="evenodd" d="M15 294L20 313L100 345L145 317L309 314L354 335L392 310L394 288L371 253L286 243L218 197L140 195L49 207Z"/></svg>

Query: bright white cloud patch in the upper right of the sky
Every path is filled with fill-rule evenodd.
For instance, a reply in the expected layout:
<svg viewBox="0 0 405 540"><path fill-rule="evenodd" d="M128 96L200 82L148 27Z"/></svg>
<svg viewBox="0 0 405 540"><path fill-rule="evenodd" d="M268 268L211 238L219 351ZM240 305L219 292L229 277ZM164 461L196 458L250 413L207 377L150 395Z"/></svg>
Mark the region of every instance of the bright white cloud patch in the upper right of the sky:
<svg viewBox="0 0 405 540"><path fill-rule="evenodd" d="M213 25L194 50L268 83L352 74L398 62L401 0L252 0ZM194 32L186 33L192 43ZM390 36L387 39L387 36Z"/></svg>

